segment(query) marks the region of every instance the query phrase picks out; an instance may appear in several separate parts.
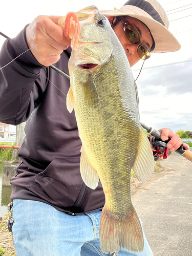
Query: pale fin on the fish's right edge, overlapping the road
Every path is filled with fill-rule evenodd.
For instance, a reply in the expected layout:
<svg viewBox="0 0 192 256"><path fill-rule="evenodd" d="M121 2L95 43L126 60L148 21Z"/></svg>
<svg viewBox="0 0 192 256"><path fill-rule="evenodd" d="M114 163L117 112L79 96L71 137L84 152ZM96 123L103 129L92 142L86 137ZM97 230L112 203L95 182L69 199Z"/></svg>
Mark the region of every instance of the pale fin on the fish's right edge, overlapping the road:
<svg viewBox="0 0 192 256"><path fill-rule="evenodd" d="M138 153L132 169L139 182L144 182L154 172L155 160L150 141L142 127L140 133Z"/></svg>

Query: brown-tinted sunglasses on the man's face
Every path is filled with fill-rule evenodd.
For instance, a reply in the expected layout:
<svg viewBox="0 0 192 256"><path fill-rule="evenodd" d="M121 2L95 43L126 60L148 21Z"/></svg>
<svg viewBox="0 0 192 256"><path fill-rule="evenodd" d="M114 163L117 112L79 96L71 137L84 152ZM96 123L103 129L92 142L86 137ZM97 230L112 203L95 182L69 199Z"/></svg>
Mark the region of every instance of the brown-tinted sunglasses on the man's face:
<svg viewBox="0 0 192 256"><path fill-rule="evenodd" d="M123 26L123 30L125 33L126 38L133 44L133 45L138 45L137 47L137 53L141 59L148 59L150 58L150 50L144 45L141 44L141 40L139 37L139 32L137 29L130 23L128 22L125 18L122 16L119 16L119 19L121 21L121 24Z"/></svg>

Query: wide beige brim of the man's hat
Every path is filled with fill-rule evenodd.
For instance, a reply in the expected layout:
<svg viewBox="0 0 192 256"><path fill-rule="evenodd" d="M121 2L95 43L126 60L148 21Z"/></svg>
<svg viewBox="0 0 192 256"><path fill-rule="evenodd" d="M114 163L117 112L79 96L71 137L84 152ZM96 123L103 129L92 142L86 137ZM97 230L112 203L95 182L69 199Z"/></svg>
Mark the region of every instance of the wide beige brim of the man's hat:
<svg viewBox="0 0 192 256"><path fill-rule="evenodd" d="M126 5L120 9L113 11L100 11L104 16L123 16L128 15L141 20L151 31L155 40L155 49L152 52L163 53L163 52L175 52L181 48L178 40L170 31L165 28L162 24L157 22L151 15L142 9Z"/></svg>

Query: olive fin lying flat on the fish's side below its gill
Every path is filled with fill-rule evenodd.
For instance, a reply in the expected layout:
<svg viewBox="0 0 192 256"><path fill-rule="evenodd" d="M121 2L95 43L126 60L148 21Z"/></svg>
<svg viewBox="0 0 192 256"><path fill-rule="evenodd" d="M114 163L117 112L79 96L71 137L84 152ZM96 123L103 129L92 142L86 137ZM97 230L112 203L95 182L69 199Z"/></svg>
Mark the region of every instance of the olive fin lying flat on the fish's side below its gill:
<svg viewBox="0 0 192 256"><path fill-rule="evenodd" d="M84 100L87 101L89 105L99 104L97 88L93 79L91 78L91 75L88 73L86 78L80 81L80 83L84 94Z"/></svg>

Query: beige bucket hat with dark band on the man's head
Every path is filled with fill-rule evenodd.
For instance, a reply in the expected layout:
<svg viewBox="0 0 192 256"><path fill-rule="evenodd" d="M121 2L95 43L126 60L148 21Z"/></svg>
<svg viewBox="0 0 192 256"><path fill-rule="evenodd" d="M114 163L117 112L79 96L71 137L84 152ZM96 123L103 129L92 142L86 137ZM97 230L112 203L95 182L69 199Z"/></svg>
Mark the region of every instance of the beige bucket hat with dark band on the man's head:
<svg viewBox="0 0 192 256"><path fill-rule="evenodd" d="M120 9L100 11L104 16L123 16L141 20L151 31L155 41L152 52L175 52L181 48L175 36L168 31L168 18L156 0L129 0Z"/></svg>

